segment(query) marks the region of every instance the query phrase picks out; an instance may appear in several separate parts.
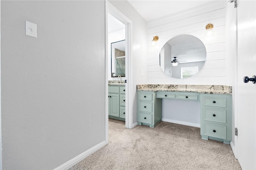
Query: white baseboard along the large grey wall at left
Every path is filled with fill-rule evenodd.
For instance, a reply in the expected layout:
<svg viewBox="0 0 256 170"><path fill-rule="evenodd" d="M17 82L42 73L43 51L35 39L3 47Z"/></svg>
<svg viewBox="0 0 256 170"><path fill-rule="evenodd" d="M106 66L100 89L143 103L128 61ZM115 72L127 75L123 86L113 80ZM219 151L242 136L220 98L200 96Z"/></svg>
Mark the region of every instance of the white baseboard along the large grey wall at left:
<svg viewBox="0 0 256 170"><path fill-rule="evenodd" d="M97 150L99 150L100 148L102 148L104 146L106 146L106 140L104 140L103 142L97 144L96 146L86 150L82 154L76 156L75 158L69 160L68 162L62 164L61 166L55 168L54 170L67 170L68 168L71 168L72 166L74 166L81 160L84 160L85 158L87 158L88 156L90 156L91 154L93 154L94 152L96 152Z"/></svg>

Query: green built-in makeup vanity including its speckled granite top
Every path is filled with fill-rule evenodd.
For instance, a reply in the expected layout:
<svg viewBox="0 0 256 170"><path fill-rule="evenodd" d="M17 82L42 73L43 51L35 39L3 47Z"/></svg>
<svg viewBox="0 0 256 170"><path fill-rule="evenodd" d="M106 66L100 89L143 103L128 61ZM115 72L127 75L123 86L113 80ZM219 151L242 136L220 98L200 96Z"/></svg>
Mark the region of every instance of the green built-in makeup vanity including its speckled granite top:
<svg viewBox="0 0 256 170"><path fill-rule="evenodd" d="M231 94L232 87L224 85L137 85L138 125L155 127L160 123L162 99L198 101L200 102L202 139L209 138L230 144L232 140Z"/></svg>

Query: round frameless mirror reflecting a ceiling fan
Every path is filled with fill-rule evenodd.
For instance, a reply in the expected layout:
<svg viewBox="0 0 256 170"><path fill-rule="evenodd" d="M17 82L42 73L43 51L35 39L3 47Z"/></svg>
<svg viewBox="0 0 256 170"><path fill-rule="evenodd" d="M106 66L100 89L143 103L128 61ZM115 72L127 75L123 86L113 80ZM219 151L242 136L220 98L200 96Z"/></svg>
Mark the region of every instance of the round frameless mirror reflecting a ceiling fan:
<svg viewBox="0 0 256 170"><path fill-rule="evenodd" d="M170 39L162 47L160 67L166 75L184 79L196 74L206 60L204 43L191 35L179 35Z"/></svg>

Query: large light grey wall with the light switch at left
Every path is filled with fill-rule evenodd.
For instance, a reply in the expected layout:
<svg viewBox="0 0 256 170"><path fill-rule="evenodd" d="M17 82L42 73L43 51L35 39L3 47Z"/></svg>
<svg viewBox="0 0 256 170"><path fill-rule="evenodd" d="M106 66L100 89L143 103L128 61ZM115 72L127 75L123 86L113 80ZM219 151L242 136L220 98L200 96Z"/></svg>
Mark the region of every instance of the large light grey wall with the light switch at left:
<svg viewBox="0 0 256 170"><path fill-rule="evenodd" d="M3 169L54 169L104 142L104 48L104 1L1 1Z"/></svg>

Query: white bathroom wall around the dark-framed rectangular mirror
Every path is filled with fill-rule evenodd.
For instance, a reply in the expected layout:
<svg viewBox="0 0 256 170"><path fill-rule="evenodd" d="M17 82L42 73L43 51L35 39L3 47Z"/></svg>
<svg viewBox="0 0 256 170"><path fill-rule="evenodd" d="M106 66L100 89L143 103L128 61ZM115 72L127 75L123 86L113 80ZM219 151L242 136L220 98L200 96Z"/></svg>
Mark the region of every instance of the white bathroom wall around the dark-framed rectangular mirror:
<svg viewBox="0 0 256 170"><path fill-rule="evenodd" d="M118 80L117 77L111 77L111 43L125 40L125 29L108 33L108 80ZM126 77L122 77L125 80Z"/></svg>

